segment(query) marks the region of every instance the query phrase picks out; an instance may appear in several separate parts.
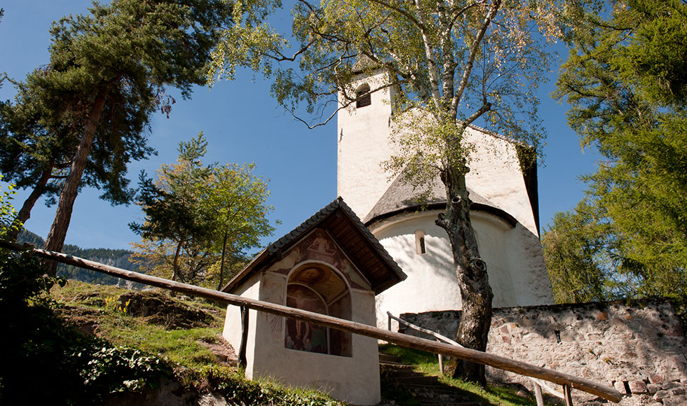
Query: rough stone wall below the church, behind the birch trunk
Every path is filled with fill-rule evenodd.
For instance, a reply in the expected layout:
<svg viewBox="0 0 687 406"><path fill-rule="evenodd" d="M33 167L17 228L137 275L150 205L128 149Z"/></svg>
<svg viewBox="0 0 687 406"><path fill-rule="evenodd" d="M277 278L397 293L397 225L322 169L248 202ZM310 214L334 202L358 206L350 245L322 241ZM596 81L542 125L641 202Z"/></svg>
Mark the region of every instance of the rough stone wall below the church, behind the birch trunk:
<svg viewBox="0 0 687 406"><path fill-rule="evenodd" d="M455 337L460 311L401 317ZM613 386L624 395L621 405L687 406L687 342L665 300L494 309L487 352ZM532 388L517 374L487 373ZM581 391L573 400L601 401Z"/></svg>

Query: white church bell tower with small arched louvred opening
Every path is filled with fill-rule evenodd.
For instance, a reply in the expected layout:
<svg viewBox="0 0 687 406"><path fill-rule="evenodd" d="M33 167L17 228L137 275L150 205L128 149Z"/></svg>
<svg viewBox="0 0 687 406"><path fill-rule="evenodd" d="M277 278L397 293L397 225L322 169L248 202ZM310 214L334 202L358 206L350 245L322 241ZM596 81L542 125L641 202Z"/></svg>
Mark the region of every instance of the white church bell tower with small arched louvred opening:
<svg viewBox="0 0 687 406"><path fill-rule="evenodd" d="M373 69L370 62L361 59L353 66L355 76L347 93L356 100L339 111L336 131L336 190L361 219L390 184L381 163L394 151L390 139L393 88L385 87L386 70ZM347 102L339 92L339 106Z"/></svg>

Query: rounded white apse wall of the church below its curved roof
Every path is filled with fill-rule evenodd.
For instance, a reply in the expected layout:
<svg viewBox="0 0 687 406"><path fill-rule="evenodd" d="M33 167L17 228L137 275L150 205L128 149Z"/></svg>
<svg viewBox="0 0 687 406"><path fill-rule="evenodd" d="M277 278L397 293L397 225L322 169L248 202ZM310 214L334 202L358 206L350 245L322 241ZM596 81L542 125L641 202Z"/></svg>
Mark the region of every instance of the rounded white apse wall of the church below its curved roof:
<svg viewBox="0 0 687 406"><path fill-rule="evenodd" d="M376 298L377 325L386 327L386 312L461 309L461 295L446 231L435 225L439 211L395 216L372 232L408 276ZM477 244L489 269L494 306L553 302L539 240L523 225L515 228L496 216L472 212ZM416 253L415 232L425 232L426 254Z"/></svg>

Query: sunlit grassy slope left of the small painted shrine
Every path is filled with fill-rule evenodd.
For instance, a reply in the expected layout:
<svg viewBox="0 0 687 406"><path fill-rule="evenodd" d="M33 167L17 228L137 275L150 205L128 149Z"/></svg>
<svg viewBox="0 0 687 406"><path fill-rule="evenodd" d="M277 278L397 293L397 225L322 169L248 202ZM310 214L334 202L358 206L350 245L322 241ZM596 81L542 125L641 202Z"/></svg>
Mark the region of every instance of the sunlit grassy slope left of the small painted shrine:
<svg viewBox="0 0 687 406"><path fill-rule="evenodd" d="M168 304L186 305L210 314L203 321L206 326L173 328L169 323L159 323L159 318L153 323L154 316L130 316L127 304L119 300L126 292L115 286L69 281L67 286L55 286L50 295L56 302L55 312L67 323L116 346L140 349L162 358L172 365L175 379L182 381L188 391L212 392L245 405L339 405L315 391L285 388L268 381L247 381L235 366L219 360L208 344L228 346L220 337L224 308L205 300L168 297Z"/></svg>

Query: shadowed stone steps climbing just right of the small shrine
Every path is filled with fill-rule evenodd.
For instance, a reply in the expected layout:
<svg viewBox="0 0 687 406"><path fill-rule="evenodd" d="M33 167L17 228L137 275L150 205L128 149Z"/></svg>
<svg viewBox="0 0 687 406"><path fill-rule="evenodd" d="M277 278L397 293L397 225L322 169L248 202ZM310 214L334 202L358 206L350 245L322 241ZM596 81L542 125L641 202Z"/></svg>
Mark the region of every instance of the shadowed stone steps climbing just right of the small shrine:
<svg viewBox="0 0 687 406"><path fill-rule="evenodd" d="M379 353L379 365L382 385L386 385L388 391L407 392L420 405L482 406L461 390L442 384L438 377L415 372L412 365L404 364L397 356Z"/></svg>

